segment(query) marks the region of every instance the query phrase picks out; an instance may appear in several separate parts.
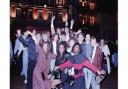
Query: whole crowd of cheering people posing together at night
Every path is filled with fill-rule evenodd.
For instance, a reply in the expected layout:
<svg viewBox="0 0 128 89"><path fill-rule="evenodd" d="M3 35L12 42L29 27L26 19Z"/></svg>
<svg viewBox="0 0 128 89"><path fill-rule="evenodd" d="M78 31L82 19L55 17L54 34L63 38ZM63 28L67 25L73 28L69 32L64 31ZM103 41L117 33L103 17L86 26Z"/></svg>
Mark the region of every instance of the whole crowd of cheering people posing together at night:
<svg viewBox="0 0 128 89"><path fill-rule="evenodd" d="M80 29L74 32L74 20L56 29L54 20L50 31L17 29L14 51L10 42L11 62L16 60L22 69L27 89L100 89L111 62L117 67L117 52L112 55L104 39L97 42Z"/></svg>

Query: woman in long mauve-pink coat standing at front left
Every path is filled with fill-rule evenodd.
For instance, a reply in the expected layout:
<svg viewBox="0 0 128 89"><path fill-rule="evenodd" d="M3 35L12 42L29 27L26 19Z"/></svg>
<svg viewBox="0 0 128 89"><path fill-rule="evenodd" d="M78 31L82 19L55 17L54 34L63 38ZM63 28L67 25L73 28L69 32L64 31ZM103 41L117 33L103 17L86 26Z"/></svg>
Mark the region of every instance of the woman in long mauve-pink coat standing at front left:
<svg viewBox="0 0 128 89"><path fill-rule="evenodd" d="M48 42L38 46L38 58L33 72L33 89L51 89L50 63L55 55L50 53Z"/></svg>

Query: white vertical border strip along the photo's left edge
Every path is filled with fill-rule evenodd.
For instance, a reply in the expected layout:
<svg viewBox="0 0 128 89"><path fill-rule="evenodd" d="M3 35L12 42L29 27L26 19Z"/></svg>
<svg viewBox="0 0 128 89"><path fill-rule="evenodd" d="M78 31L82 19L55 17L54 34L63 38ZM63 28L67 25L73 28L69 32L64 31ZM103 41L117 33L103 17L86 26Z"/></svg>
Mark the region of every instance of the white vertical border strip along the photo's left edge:
<svg viewBox="0 0 128 89"><path fill-rule="evenodd" d="M9 0L0 0L0 89L10 89Z"/></svg>

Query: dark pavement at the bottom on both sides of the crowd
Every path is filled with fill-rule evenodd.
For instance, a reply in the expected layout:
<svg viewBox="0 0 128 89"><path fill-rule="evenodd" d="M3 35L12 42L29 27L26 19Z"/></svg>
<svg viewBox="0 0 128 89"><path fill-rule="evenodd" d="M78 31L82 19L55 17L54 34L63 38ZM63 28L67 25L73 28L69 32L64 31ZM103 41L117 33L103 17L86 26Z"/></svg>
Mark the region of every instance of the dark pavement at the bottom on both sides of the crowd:
<svg viewBox="0 0 128 89"><path fill-rule="evenodd" d="M26 89L24 84L24 76L17 71L16 65L12 64L10 67L10 89ZM101 82L101 89L118 89L118 71L112 70L110 75Z"/></svg>

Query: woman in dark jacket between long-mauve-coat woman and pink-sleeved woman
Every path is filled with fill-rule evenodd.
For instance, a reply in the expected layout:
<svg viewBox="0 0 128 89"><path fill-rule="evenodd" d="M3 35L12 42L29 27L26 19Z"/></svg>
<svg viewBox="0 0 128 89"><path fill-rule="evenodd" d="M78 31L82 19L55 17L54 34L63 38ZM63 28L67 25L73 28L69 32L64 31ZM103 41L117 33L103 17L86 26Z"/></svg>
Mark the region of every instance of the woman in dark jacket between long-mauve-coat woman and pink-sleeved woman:
<svg viewBox="0 0 128 89"><path fill-rule="evenodd" d="M60 64L63 64L66 62L68 59L71 59L71 54L66 51L67 46L61 42L59 44L59 50L56 58L56 63L55 65L58 66ZM57 70L55 73L55 79L53 81L58 81L60 84L57 86L59 89L69 89L69 75L68 75L68 69L64 70Z"/></svg>

